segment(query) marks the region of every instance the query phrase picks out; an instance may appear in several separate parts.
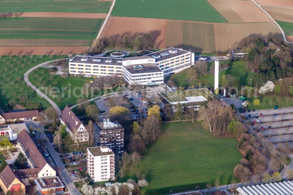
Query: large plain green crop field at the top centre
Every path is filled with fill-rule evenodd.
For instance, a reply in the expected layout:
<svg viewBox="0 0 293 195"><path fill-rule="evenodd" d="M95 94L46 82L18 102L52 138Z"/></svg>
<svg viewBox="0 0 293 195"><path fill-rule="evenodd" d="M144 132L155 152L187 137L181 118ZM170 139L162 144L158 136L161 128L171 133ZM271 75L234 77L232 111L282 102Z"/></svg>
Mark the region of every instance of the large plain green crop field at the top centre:
<svg viewBox="0 0 293 195"><path fill-rule="evenodd" d="M113 16L227 22L207 0L117 0Z"/></svg>

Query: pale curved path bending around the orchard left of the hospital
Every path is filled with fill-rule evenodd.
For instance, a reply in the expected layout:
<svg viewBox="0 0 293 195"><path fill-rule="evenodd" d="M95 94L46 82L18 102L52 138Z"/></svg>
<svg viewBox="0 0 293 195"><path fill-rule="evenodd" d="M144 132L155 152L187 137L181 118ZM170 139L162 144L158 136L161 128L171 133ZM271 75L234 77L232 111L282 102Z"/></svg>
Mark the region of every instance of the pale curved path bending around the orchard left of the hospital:
<svg viewBox="0 0 293 195"><path fill-rule="evenodd" d="M38 88L36 88L29 80L28 80L28 75L31 71L41 67L41 66L44 66L46 64L49 64L53 61L61 61L61 60L67 60L69 58L63 58L63 59L57 59L57 60L51 60L51 61L46 61L46 62L43 62L41 64L38 64L37 66L34 66L32 67L31 69L29 69L28 71L26 71L24 73L24 81L26 84L28 84L31 88L33 88L42 98L45 98L45 100L47 100L54 108L55 110L57 111L58 114L61 114L61 110L59 109L59 107L57 106L57 104L55 104L55 102L53 102L53 100L51 100L47 95L45 95L44 93L42 93Z"/></svg>

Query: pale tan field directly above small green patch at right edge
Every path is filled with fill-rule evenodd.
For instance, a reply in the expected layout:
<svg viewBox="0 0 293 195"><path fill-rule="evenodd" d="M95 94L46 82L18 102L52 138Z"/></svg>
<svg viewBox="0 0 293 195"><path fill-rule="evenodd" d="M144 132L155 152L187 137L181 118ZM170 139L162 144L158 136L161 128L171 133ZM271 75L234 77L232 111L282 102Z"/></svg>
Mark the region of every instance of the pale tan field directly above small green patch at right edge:
<svg viewBox="0 0 293 195"><path fill-rule="evenodd" d="M293 22L293 8L263 6L272 18L284 22Z"/></svg>

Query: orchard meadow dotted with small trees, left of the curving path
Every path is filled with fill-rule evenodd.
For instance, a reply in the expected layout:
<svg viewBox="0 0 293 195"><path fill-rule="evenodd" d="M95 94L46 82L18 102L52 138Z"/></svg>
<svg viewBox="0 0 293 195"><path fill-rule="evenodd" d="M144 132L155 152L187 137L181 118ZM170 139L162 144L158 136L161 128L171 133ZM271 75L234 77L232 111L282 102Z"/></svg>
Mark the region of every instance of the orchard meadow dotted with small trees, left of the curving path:
<svg viewBox="0 0 293 195"><path fill-rule="evenodd" d="M3 85L0 85L0 106L2 109L5 112L9 111L9 100L16 100L17 103L42 103L43 108L50 107L51 105L46 100L42 100L36 95L36 92L32 92L31 88L27 88L27 85L23 80L23 75L26 71L28 71L28 69L42 62L49 61L51 58L44 56L41 60L40 56L33 56L33 59L30 59L30 56L24 56L22 59L20 59L19 56L11 57L12 59L10 60L10 56L1 56L0 60L0 82L3 82ZM54 56L53 59L60 59L64 57L65 56ZM14 62L14 59L16 62ZM35 59L38 61L35 62ZM18 65L18 62L21 64ZM30 66L28 65L28 62L31 62ZM9 66L7 63L9 63ZM13 69L11 68L11 64L14 66ZM24 69L21 67L22 65L25 65ZM16 80L17 78L21 78L20 82ZM18 97L23 96L24 94L27 94L28 96L27 102L21 102L18 100Z"/></svg>

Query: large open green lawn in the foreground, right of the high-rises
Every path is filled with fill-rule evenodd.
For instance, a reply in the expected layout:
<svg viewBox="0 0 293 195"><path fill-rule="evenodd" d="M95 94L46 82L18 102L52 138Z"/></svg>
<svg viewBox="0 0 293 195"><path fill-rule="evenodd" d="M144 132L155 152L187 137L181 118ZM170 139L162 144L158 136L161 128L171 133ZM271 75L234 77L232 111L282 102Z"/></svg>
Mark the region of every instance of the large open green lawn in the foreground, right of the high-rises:
<svg viewBox="0 0 293 195"><path fill-rule="evenodd" d="M235 179L233 169L242 158L236 139L214 136L198 122L164 123L162 129L159 140L149 145L146 157L137 167L132 165L125 178L145 173L149 186L143 194L195 190L216 179L221 185Z"/></svg>

